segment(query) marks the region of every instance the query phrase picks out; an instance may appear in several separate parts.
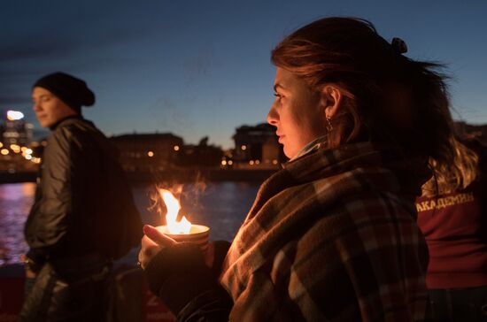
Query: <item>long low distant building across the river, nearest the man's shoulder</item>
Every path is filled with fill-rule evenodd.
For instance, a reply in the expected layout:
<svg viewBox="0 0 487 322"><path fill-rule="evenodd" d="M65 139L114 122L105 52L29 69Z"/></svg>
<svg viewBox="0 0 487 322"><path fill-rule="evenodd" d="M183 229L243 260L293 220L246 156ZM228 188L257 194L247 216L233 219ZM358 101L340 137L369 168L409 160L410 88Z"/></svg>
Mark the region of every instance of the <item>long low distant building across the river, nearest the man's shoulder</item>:
<svg viewBox="0 0 487 322"><path fill-rule="evenodd" d="M120 164L129 172L167 170L178 163L183 141L174 134L123 134L113 136Z"/></svg>

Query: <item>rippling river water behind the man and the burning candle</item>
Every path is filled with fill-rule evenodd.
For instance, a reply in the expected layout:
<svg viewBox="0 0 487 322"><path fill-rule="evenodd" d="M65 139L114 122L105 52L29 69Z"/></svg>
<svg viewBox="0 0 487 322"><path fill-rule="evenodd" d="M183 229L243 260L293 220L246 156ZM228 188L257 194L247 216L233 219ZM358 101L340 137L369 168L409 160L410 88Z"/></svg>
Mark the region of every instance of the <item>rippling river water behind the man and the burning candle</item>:
<svg viewBox="0 0 487 322"><path fill-rule="evenodd" d="M257 194L259 183L217 182L205 187L182 188L182 213L189 221L211 227L210 239L233 239ZM134 200L143 223L162 225L163 219L153 205L155 187L133 188ZM23 228L34 201L35 183L0 184L0 266L19 263L27 250Z"/></svg>

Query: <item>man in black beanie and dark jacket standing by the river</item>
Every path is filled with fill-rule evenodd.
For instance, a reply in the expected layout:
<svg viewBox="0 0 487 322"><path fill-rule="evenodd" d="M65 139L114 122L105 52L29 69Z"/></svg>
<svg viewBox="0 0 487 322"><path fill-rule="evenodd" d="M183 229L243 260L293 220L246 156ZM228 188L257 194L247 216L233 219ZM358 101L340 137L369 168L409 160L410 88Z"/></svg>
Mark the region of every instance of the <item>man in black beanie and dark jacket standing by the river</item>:
<svg viewBox="0 0 487 322"><path fill-rule="evenodd" d="M86 83L51 73L35 82L32 99L51 134L25 227L19 320L103 321L112 259L140 241L140 216L112 143L81 116L81 106L95 103Z"/></svg>

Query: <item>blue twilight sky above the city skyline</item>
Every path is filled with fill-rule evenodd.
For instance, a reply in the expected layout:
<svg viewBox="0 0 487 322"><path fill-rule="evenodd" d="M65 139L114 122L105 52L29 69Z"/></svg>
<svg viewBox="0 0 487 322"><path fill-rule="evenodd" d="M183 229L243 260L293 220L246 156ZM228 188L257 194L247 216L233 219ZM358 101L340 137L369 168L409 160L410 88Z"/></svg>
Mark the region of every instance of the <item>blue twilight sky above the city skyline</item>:
<svg viewBox="0 0 487 322"><path fill-rule="evenodd" d="M266 119L273 100L270 50L327 16L371 20L410 58L448 65L456 119L487 123L487 1L139 0L3 1L0 111L31 111L46 73L86 80L84 111L105 134L172 132L231 147L237 126Z"/></svg>

